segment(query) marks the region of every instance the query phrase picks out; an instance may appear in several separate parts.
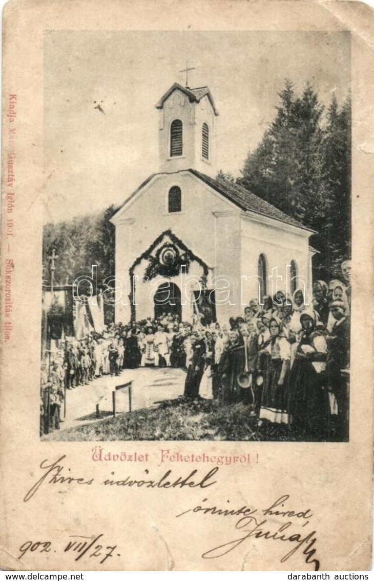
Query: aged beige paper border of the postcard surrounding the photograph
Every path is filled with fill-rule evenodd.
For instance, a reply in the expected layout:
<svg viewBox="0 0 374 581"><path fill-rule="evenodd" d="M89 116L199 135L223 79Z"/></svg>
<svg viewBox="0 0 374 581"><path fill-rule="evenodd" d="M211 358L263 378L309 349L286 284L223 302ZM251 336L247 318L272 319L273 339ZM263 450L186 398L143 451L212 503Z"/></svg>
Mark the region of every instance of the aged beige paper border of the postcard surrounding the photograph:
<svg viewBox="0 0 374 581"><path fill-rule="evenodd" d="M107 2L80 0L10 1L3 34L3 180L9 149L9 95L17 95L15 229L11 256L6 240L6 205L2 188L2 272L6 258L15 264L12 277L12 338L2 343L2 568L25 570L95 570L94 562L74 562L69 554L30 553L18 560L27 540L105 533L121 557L106 570L164 571L312 571L303 555L280 562L276 543L256 544L220 560L202 560L200 548L217 535L217 523L204 520L175 524L175 515L203 500L202 493L105 490L99 487L44 487L24 503L25 493L40 478L39 465L66 456L66 469L95 481L107 478L110 465L92 462L90 442L40 442L39 344L41 304L41 215L43 208L43 31L74 30L351 30L353 85L353 321L351 350L350 442L169 443L174 451L259 455L250 467L222 467L212 503L228 498L236 504L267 503L290 494L294 507L311 508L317 530L321 571L367 570L371 562L372 487L372 154L373 12L358 2ZM35 145L33 145L35 144ZM3 184L4 185L4 184ZM370 305L370 307L369 307ZM2 308L2 334L3 334ZM148 451L148 469L161 475L160 442L107 442L107 451ZM170 466L178 474L179 468ZM137 467L116 467L118 474L140 476ZM228 496L229 495L229 496ZM240 504L241 503L241 504ZM222 542L223 542L222 540ZM104 569L104 570L105 570Z"/></svg>

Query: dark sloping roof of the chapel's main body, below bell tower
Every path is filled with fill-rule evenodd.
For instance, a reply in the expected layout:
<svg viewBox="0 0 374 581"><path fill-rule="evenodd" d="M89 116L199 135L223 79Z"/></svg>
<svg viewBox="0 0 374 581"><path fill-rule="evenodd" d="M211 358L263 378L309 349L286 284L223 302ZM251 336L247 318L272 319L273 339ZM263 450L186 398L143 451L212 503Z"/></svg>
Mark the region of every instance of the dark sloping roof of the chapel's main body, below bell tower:
<svg viewBox="0 0 374 581"><path fill-rule="evenodd" d="M204 184L213 188L216 192L220 193L222 196L224 196L230 202L233 202L236 206L239 206L240 209L244 211L255 212L257 214L261 214L262 216L274 218L274 220L279 220L280 222L283 222L285 224L291 224L298 228L303 228L304 230L314 232L311 228L308 228L301 222L295 220L290 216L287 216L287 214L282 212L282 210L279 210L269 202L266 202L266 200L259 198L254 193L250 192L248 189L243 188L238 184L233 184L232 182L229 182L228 180L225 180L225 178L221 177L211 178L208 175L203 174L200 171L194 170L192 168L189 168L188 170L181 170L181 172L177 173L183 173L184 171L188 171L190 174L195 175L195 177L198 178L199 180L202 180ZM145 187L157 175L170 175L170 174L166 172L151 174L145 181L142 182L141 185L139 185L138 188L135 189L134 192L131 193L130 196L128 196L127 199L124 200L124 202L117 208L116 213L120 211L121 208L127 204L127 202L130 202L130 200L134 198L134 196L139 191L141 191L141 189Z"/></svg>

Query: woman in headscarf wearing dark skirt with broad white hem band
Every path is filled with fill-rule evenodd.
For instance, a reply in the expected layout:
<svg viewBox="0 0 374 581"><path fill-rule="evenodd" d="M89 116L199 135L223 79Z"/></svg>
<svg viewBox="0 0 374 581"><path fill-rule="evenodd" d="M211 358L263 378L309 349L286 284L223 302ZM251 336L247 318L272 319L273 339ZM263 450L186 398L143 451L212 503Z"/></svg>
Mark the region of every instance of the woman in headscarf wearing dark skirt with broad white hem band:
<svg viewBox="0 0 374 581"><path fill-rule="evenodd" d="M267 382L262 389L260 422L275 425L289 424L287 402L289 399L290 344L283 334L282 324L275 315L269 324L270 339L261 352L268 353ZM260 354L261 354L260 352Z"/></svg>

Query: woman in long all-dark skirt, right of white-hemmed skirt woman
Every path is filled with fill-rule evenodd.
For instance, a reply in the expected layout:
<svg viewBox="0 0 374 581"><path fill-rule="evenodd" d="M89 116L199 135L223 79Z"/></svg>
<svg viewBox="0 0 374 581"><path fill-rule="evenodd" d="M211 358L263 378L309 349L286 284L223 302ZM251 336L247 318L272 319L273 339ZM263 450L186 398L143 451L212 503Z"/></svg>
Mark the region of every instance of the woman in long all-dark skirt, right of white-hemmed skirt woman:
<svg viewBox="0 0 374 581"><path fill-rule="evenodd" d="M289 410L297 435L324 440L328 436L330 403L326 389L327 343L316 328L318 316L305 309L300 315L301 333L290 374Z"/></svg>

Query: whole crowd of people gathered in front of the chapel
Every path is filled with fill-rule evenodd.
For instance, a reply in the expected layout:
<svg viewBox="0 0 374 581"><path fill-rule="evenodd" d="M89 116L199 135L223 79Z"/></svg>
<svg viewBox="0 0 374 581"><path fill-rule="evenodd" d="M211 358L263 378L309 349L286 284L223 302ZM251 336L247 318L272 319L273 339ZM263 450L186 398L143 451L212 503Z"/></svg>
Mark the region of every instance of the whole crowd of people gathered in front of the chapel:
<svg viewBox="0 0 374 581"><path fill-rule="evenodd" d="M228 324L207 326L197 316L182 322L166 311L57 345L49 362L42 362L44 431L45 422L47 431L59 428L64 386L75 389L102 375L152 366L183 368L186 400L242 402L265 436L347 439L349 265L342 270L348 284L314 282L310 304L302 289L291 300L278 291L264 304L250 300Z"/></svg>

